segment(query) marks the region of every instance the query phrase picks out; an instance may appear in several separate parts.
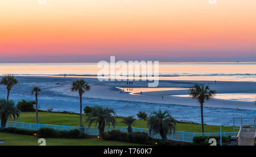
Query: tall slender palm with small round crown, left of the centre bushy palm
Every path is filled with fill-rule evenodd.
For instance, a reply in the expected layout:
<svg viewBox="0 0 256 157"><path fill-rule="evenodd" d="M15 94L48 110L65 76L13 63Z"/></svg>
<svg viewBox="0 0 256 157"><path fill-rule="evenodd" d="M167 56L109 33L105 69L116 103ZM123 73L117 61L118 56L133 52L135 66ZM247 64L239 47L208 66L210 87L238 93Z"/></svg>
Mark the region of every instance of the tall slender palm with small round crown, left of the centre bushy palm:
<svg viewBox="0 0 256 157"><path fill-rule="evenodd" d="M90 85L84 79L76 80L72 84L72 91L78 91L80 97L80 126L82 126L82 94L90 90Z"/></svg>

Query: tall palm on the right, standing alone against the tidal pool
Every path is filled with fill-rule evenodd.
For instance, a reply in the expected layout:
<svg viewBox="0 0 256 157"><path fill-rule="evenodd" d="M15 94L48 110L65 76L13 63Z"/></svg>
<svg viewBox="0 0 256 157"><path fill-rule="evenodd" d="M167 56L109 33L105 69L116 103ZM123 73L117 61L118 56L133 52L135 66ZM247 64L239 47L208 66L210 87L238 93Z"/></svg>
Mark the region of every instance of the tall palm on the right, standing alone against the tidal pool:
<svg viewBox="0 0 256 157"><path fill-rule="evenodd" d="M193 99L196 99L201 106L201 125L202 125L202 133L204 133L204 102L205 100L211 100L216 94L215 90L211 90L208 85L199 85L195 84L193 88L190 89L190 96Z"/></svg>

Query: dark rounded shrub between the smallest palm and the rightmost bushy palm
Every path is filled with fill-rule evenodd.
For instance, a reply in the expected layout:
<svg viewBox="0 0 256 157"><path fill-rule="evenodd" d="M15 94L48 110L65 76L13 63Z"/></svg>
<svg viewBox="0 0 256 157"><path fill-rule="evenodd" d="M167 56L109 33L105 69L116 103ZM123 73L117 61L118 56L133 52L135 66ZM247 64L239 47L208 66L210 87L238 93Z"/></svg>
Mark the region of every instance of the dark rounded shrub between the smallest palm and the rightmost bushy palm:
<svg viewBox="0 0 256 157"><path fill-rule="evenodd" d="M134 132L128 135L128 142L149 144L152 143L152 138L147 133Z"/></svg>

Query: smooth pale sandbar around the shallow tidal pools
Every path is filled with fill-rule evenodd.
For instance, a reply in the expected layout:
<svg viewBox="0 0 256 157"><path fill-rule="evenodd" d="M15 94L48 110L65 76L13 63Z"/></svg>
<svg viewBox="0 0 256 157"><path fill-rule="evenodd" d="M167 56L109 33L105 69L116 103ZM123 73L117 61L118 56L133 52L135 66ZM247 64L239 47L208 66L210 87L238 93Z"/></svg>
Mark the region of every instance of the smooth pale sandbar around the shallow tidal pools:
<svg viewBox="0 0 256 157"><path fill-rule="evenodd" d="M120 88L143 88L147 87L146 81L135 81L133 85L127 85L126 81L98 81L97 79L86 78L86 81L92 86L89 92L86 92L84 98L100 98L106 100L121 100L134 102L148 102L155 104L174 104L186 106L199 106L196 100L188 97L176 97L172 95L188 94L188 90L164 90L157 92L143 92L142 95L132 95L127 92L121 93L116 87ZM166 81L160 80L158 88L191 88L195 83L209 84L217 93L255 93L256 82L232 82L232 81ZM54 92L68 94L69 96L78 96L77 92L71 92L71 84L61 84L51 88ZM162 96L164 99L162 100ZM256 110L254 102L233 101L213 99L205 102L205 107L209 108L227 108L227 109L245 109Z"/></svg>

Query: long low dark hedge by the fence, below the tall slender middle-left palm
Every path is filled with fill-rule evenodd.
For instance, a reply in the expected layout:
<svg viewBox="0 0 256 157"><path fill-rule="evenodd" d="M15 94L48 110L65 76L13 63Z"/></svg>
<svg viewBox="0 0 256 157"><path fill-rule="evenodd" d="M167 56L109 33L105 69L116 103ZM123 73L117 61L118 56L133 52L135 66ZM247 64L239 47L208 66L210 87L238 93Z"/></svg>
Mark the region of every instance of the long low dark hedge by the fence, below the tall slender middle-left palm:
<svg viewBox="0 0 256 157"><path fill-rule="evenodd" d="M51 128L41 128L38 130L39 138L86 138L87 135L80 130L55 130Z"/></svg>

